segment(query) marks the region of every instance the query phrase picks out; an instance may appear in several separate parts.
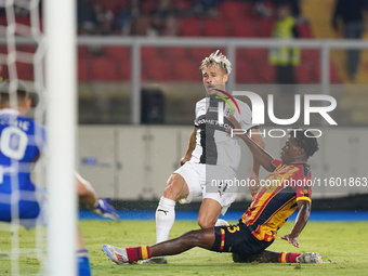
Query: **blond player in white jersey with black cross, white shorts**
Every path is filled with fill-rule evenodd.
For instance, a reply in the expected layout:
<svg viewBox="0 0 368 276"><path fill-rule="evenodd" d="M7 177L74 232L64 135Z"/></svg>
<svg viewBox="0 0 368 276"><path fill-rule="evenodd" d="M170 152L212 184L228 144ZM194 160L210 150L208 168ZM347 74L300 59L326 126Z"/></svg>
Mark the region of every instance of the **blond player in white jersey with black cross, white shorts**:
<svg viewBox="0 0 368 276"><path fill-rule="evenodd" d="M163 196L156 210L157 242L168 239L175 221L176 201L189 203L194 197L202 196L198 213L198 224L201 228L216 224L219 215L225 214L236 199L237 187L227 186L226 180L236 179L240 161L239 139L231 137L226 129L233 128L226 115L232 113L228 103L237 105L234 116L245 130L252 129L252 139L264 148L261 135L257 135L258 126L251 123L249 106L234 100L225 92L225 83L232 71L231 62L219 51L206 57L199 69L202 73L207 96L196 104L194 130L189 137L188 149L181 160L182 167L171 174L167 182ZM233 98L232 98L233 100ZM223 103L224 123L219 122L219 102ZM253 158L250 180L259 183L260 165ZM221 181L216 187L211 186L211 180ZM257 187L254 187L257 190ZM251 193L255 193L251 189ZM142 263L167 263L166 257L156 257Z"/></svg>

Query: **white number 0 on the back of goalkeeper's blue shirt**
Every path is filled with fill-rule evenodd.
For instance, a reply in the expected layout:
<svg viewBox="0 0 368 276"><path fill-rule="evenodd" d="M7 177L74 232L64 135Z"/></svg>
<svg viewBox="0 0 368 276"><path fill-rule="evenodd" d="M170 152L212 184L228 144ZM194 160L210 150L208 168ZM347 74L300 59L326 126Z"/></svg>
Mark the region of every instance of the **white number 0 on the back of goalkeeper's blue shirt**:
<svg viewBox="0 0 368 276"><path fill-rule="evenodd" d="M28 144L28 136L25 132L15 127L8 127L1 132L0 150L12 159L23 159Z"/></svg>

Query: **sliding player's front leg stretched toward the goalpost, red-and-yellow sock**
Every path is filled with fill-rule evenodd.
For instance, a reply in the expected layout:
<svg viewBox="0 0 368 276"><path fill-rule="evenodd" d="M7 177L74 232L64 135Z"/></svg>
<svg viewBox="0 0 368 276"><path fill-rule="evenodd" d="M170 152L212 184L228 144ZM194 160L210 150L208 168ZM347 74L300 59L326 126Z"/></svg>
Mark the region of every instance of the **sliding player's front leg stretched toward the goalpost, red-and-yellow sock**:
<svg viewBox="0 0 368 276"><path fill-rule="evenodd" d="M213 228L190 231L179 238L170 239L154 246L117 248L103 245L102 250L116 264L134 263L152 257L174 255L194 247L211 249L214 244Z"/></svg>

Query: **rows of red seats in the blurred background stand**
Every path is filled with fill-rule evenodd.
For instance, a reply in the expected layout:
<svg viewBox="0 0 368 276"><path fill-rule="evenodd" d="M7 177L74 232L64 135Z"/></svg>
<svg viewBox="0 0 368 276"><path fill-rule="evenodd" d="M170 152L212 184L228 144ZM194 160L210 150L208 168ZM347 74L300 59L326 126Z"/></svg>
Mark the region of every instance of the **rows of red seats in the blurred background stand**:
<svg viewBox="0 0 368 276"><path fill-rule="evenodd" d="M106 11L113 11L115 16L119 14L122 6L128 3L127 0L97 0L103 4ZM92 1L89 1L92 3ZM149 16L152 9L156 4L153 0L142 2L142 10L144 14ZM271 3L266 3L271 8ZM274 16L261 18L254 13L251 1L223 1L219 6L220 16L211 17L196 17L196 14L190 12L194 6L193 1L180 1L178 8L182 11L181 31L182 37L236 37L236 38L268 38L272 37ZM308 8L308 4L306 5ZM314 9L314 10L313 10ZM307 16L311 17L311 11ZM316 14L319 14L316 11ZM0 22L6 22L4 15L0 15ZM18 16L16 18L18 24L30 25L29 16ZM313 23L313 16L312 16ZM298 29L301 38L313 38L310 23L299 23ZM4 24L5 25L5 24ZM0 52L4 51L4 45L1 45ZM35 48L31 45L23 45L21 51L31 53ZM194 80L194 73L179 73L176 68L179 64L185 64L185 67L190 68L193 64L199 64L203 56L208 56L215 49L212 48L142 48L142 75L143 79L152 80ZM222 52L225 52L222 49ZM249 66L257 66L251 74L237 74L237 81L249 83L270 83L274 80L274 69L267 61L267 49L238 49L237 50L237 68L248 71ZM88 47L78 47L78 78L80 81L100 80L129 80L131 74L130 65L130 49L127 47L106 47L103 51L97 53L91 52ZM167 58L170 63L165 62ZM185 60L185 63L183 61ZM159 61L159 65L163 68L155 71L155 63ZM23 65L19 66L19 74L24 75L26 79L32 79L30 73ZM107 66L107 67L104 67ZM183 65L184 66L184 65ZM171 74L171 69L173 73ZM340 66L339 66L340 67ZM331 80L333 83L340 83L341 78L339 71L341 69L334 64L331 64ZM104 69L111 68L111 69ZM198 66L194 66L197 70ZM4 69L6 70L5 66ZM302 50L302 64L297 68L298 81L302 83L314 83L320 81L320 58L317 50ZM5 76L5 75L4 75ZM197 79L198 81L200 80Z"/></svg>

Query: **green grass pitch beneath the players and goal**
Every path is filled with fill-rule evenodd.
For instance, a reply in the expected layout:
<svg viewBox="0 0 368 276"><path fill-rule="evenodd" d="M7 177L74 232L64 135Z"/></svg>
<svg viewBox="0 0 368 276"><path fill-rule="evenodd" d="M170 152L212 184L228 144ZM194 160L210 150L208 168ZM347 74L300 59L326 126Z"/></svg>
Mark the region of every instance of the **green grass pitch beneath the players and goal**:
<svg viewBox="0 0 368 276"><path fill-rule="evenodd" d="M84 242L90 250L93 275L367 275L368 222L310 222L300 236L300 248L280 240L292 223L287 223L270 247L275 251L317 251L323 264L235 264L228 253L215 253L200 248L180 255L168 257L163 265L116 265L101 251L101 245L119 247L152 245L155 242L154 221L81 221L79 222ZM196 222L178 221L170 237L198 228ZM0 229L0 275L11 275L10 232ZM19 231L22 249L35 246L35 231ZM40 268L36 257L21 257L22 275L35 275Z"/></svg>

